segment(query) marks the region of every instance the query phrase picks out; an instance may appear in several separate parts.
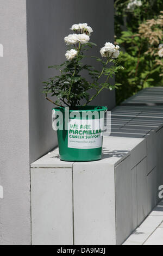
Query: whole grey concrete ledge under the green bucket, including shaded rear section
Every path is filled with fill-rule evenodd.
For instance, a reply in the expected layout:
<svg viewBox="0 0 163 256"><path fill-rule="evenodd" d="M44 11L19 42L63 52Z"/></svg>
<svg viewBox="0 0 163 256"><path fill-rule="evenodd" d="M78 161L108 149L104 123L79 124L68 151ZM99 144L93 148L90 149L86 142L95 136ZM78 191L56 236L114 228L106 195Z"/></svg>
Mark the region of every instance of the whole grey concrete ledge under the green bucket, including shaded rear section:
<svg viewBox="0 0 163 256"><path fill-rule="evenodd" d="M32 164L33 245L121 245L158 203L163 106L111 118L102 160L63 162L55 149Z"/></svg>

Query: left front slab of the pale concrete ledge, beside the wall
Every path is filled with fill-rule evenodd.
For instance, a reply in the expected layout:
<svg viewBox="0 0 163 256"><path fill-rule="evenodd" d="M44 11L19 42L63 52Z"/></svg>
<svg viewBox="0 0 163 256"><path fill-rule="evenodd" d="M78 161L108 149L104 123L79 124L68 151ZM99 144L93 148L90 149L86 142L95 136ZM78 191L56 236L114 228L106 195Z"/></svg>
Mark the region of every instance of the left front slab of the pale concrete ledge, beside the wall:
<svg viewBox="0 0 163 256"><path fill-rule="evenodd" d="M33 244L72 245L72 168L34 169L32 194Z"/></svg>

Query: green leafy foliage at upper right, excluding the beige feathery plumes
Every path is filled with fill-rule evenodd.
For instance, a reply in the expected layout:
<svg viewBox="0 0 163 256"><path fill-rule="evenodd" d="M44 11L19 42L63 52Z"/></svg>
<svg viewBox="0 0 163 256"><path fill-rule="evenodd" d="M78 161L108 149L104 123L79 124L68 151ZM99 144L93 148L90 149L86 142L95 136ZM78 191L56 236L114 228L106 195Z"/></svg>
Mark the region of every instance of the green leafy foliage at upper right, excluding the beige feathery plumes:
<svg viewBox="0 0 163 256"><path fill-rule="evenodd" d="M139 26L146 20L158 19L160 11L163 10L163 1L141 0L142 6L134 10L127 9L130 1L114 2L115 41L121 46L120 64L125 68L116 75L116 83L122 83L122 86L116 90L116 101L119 105L143 88L163 86L160 76L162 66L155 64L155 59L161 58L150 53L145 54L150 47L148 40L135 36L139 32ZM160 40L159 43L162 42Z"/></svg>

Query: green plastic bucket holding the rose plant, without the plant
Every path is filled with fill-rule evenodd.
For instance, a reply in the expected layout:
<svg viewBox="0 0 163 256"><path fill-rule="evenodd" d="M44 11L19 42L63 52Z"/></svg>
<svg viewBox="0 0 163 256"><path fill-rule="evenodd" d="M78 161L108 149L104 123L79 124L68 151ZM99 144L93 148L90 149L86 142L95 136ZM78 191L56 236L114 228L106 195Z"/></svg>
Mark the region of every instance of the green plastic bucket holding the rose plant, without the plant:
<svg viewBox="0 0 163 256"><path fill-rule="evenodd" d="M62 107L53 108L60 160L86 162L101 159L106 111L107 107L95 106L68 110Z"/></svg>

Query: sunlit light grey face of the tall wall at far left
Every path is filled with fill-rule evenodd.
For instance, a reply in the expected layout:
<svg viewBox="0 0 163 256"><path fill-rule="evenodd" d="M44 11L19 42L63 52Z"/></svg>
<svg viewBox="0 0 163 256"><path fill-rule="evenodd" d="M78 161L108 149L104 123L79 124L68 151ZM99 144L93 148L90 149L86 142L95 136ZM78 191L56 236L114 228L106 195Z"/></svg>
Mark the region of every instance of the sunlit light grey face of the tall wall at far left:
<svg viewBox="0 0 163 256"><path fill-rule="evenodd" d="M26 0L1 0L0 5L0 245L29 245Z"/></svg>

